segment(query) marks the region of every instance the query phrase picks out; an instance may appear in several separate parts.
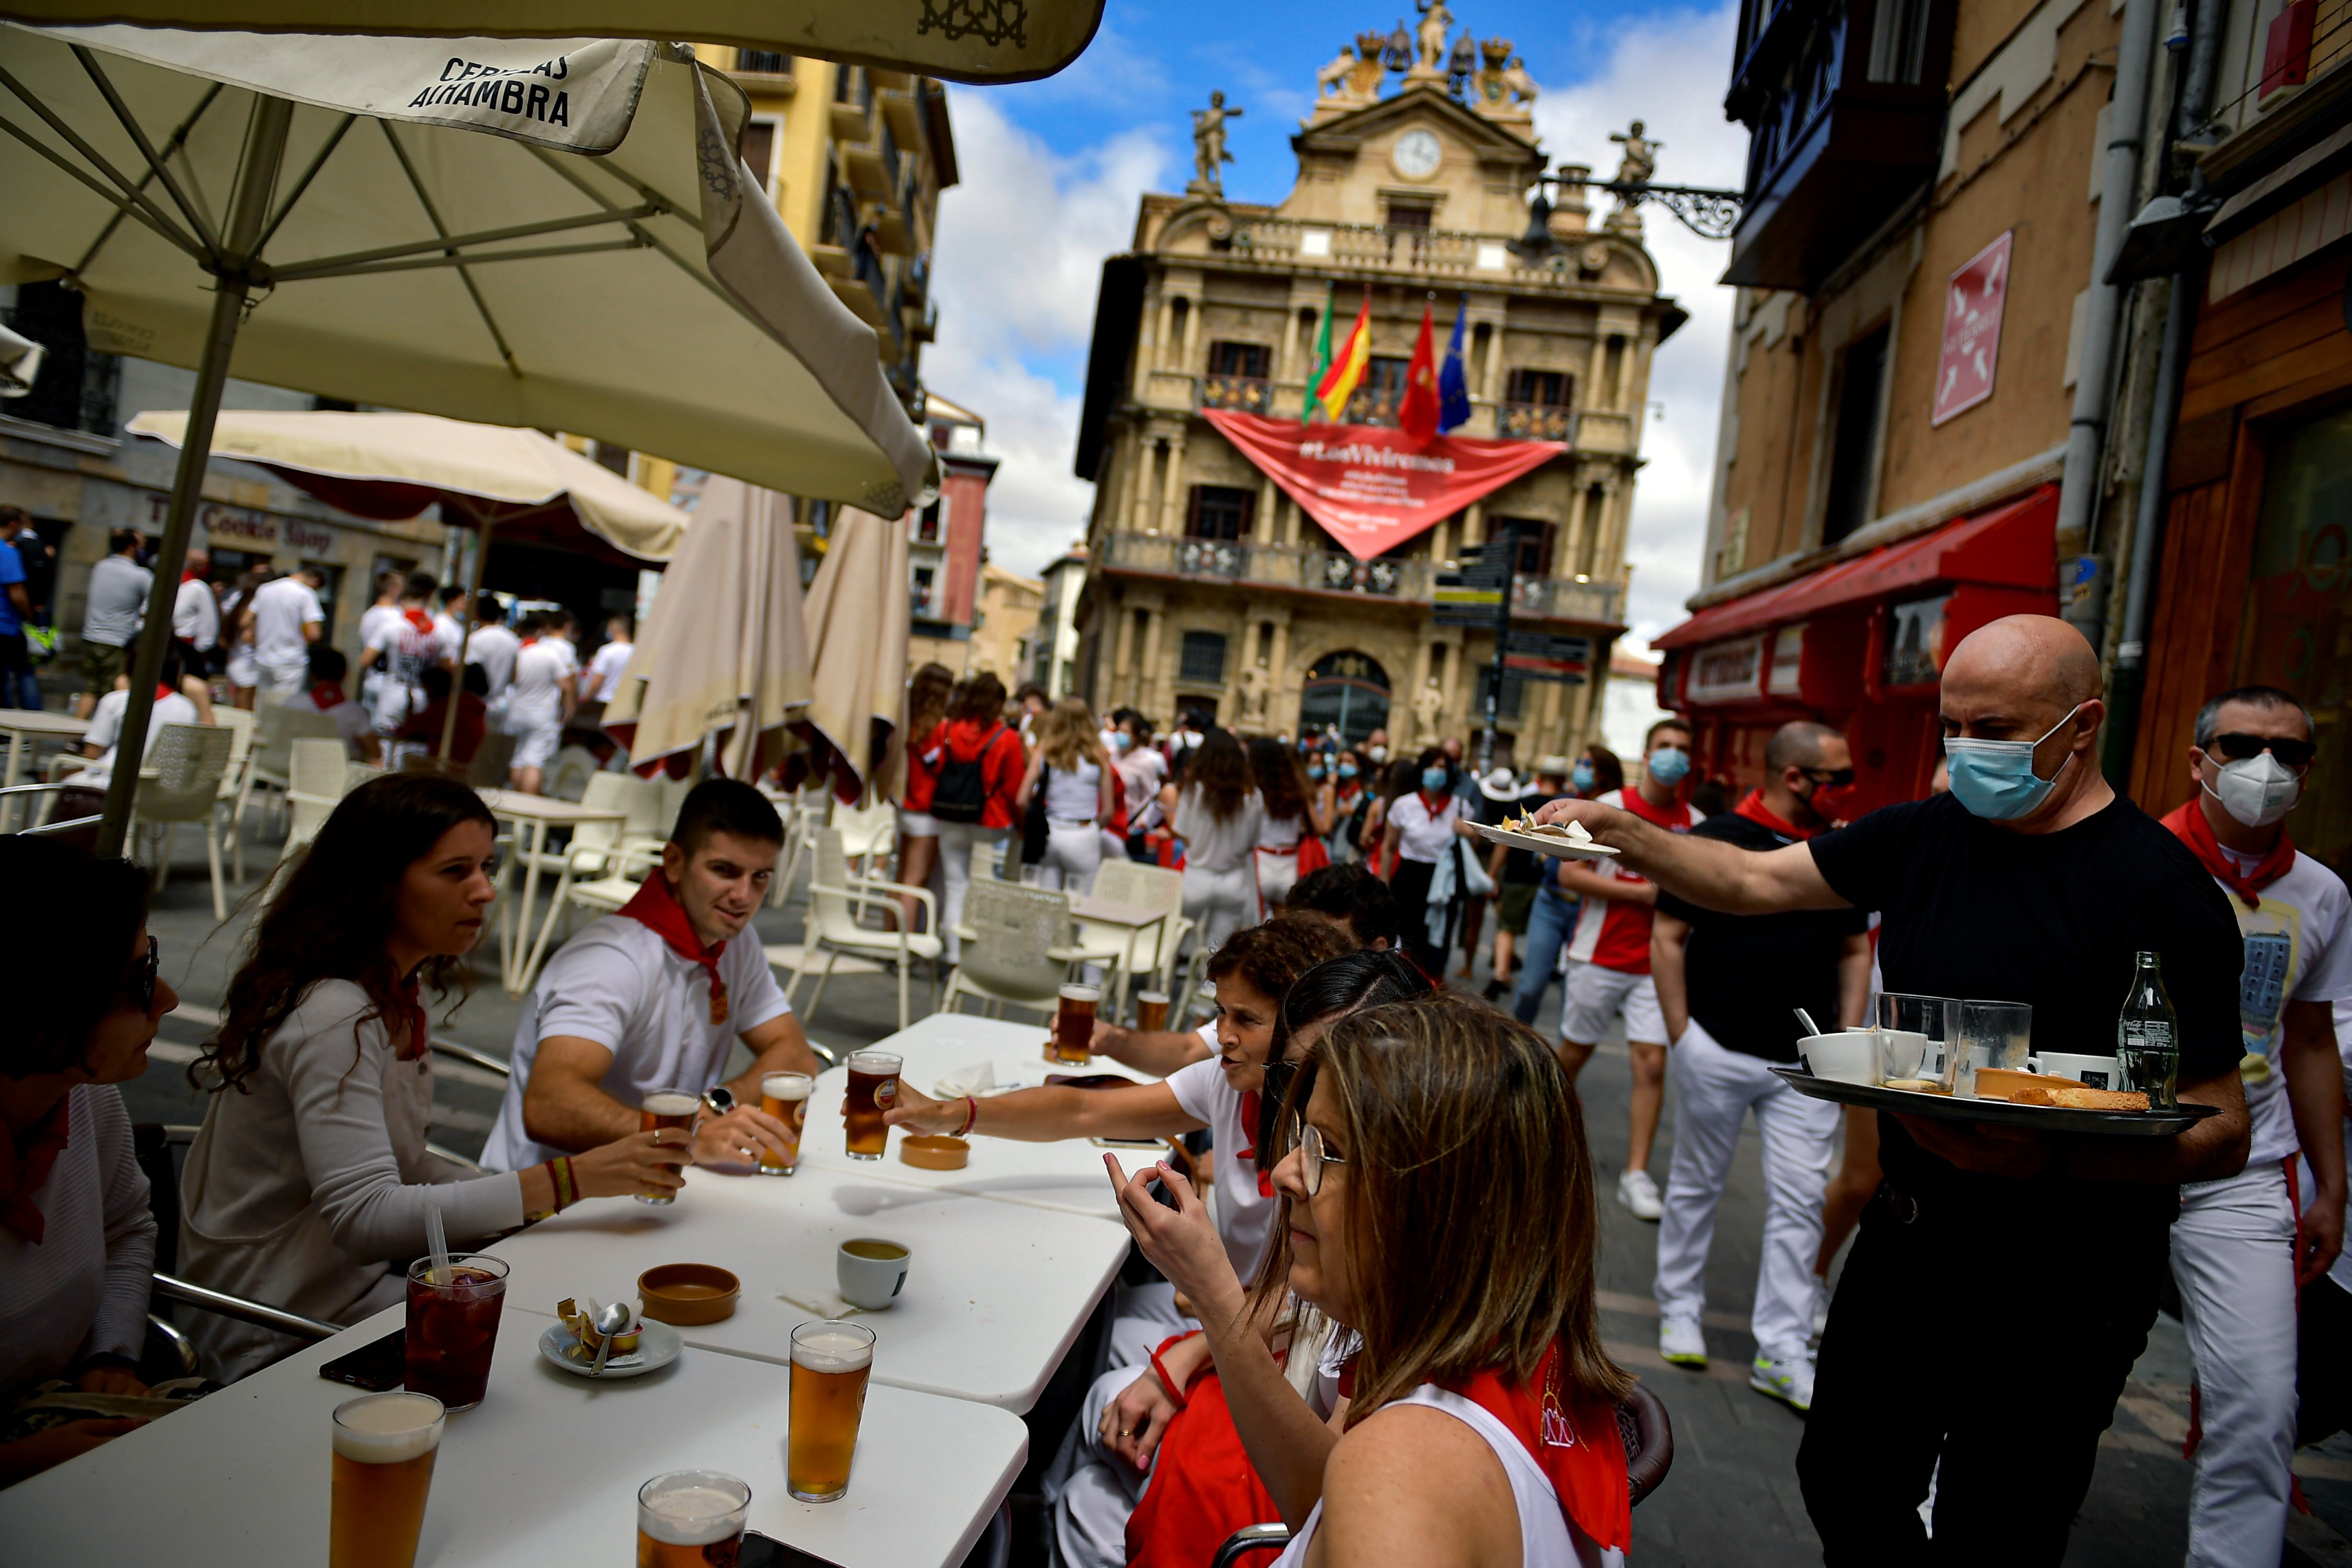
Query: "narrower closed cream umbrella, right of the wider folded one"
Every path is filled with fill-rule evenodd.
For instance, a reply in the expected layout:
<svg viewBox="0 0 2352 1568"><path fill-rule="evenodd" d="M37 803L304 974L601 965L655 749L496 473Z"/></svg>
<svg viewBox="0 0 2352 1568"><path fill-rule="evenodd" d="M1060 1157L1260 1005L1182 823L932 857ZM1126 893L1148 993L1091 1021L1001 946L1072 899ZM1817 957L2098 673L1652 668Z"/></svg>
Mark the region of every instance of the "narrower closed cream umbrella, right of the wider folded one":
<svg viewBox="0 0 2352 1568"><path fill-rule="evenodd" d="M809 710L793 733L809 743L793 757L788 785L826 778L854 802L868 785L896 799L906 759L908 618L906 522L844 508L809 583Z"/></svg>

